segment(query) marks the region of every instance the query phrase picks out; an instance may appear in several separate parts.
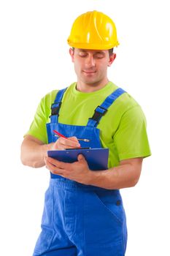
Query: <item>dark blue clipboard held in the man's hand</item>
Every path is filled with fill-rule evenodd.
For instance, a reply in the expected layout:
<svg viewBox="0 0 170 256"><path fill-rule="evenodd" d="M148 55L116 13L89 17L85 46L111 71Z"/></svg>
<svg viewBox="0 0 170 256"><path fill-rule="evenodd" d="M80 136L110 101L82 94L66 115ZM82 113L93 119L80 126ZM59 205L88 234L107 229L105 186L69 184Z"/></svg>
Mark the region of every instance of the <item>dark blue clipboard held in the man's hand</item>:
<svg viewBox="0 0 170 256"><path fill-rule="evenodd" d="M61 162L77 162L77 157L82 154L88 162L90 170L108 169L109 148L89 148L89 149L63 149L47 151L48 157L52 157Z"/></svg>

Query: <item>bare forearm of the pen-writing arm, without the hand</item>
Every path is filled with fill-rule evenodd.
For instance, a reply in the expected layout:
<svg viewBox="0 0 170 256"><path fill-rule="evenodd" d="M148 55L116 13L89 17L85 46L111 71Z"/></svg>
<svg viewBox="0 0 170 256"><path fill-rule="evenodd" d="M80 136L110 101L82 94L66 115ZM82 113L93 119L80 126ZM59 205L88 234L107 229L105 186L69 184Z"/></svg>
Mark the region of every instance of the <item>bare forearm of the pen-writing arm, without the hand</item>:
<svg viewBox="0 0 170 256"><path fill-rule="evenodd" d="M42 167L45 165L44 158L47 157L49 145L37 144L34 140L23 141L20 159L23 165L30 167Z"/></svg>

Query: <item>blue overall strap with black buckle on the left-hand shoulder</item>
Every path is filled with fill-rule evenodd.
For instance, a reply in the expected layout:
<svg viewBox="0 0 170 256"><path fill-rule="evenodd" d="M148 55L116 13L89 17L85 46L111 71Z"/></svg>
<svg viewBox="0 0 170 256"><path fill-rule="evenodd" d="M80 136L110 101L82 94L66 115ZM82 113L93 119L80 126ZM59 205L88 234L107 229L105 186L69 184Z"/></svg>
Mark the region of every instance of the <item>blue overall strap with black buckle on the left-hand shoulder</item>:
<svg viewBox="0 0 170 256"><path fill-rule="evenodd" d="M51 123L57 123L58 122L58 116L59 111L61 108L61 101L63 99L63 94L66 91L67 87L65 89L62 89L58 91L54 103L51 105L51 116L50 116L50 122Z"/></svg>

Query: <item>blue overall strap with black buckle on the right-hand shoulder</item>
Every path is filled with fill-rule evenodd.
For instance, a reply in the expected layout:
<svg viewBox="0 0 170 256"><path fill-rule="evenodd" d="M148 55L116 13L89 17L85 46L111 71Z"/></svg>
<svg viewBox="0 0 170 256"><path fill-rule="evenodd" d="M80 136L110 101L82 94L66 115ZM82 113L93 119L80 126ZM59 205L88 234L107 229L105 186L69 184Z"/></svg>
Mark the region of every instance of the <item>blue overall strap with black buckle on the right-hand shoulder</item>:
<svg viewBox="0 0 170 256"><path fill-rule="evenodd" d="M112 94L110 94L104 102L94 110L94 114L92 118L88 118L88 127L96 127L101 120L101 117L107 112L107 109L110 105L112 105L115 100L120 97L120 95L124 94L125 91L121 88L116 89Z"/></svg>

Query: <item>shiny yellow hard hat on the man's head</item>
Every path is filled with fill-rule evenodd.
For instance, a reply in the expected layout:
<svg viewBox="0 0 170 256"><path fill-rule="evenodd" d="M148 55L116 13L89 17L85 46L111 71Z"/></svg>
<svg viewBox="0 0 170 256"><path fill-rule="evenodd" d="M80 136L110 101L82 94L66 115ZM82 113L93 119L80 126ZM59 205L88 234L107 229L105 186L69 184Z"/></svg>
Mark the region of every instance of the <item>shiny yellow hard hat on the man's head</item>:
<svg viewBox="0 0 170 256"><path fill-rule="evenodd" d="M119 45L115 23L97 11L83 13L74 20L67 42L74 48L91 50L109 50Z"/></svg>

